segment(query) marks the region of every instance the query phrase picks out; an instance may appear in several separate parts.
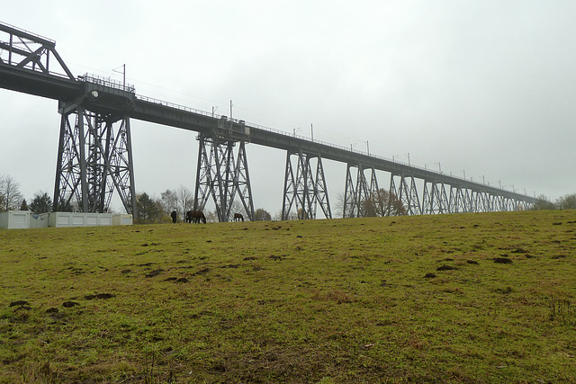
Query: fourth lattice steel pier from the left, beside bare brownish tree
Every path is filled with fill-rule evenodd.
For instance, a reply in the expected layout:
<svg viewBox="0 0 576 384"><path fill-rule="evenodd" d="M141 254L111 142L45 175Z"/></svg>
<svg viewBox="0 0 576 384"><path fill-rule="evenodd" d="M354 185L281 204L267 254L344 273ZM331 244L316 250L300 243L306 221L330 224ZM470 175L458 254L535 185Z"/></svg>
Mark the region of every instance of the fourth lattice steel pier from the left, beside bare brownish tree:
<svg viewBox="0 0 576 384"><path fill-rule="evenodd" d="M352 168L356 168L356 185ZM370 169L370 185L365 171ZM346 170L346 190L344 192L343 218L363 218L366 216L365 201L378 196L378 179L373 165L350 164ZM390 209L390 207L389 207Z"/></svg>

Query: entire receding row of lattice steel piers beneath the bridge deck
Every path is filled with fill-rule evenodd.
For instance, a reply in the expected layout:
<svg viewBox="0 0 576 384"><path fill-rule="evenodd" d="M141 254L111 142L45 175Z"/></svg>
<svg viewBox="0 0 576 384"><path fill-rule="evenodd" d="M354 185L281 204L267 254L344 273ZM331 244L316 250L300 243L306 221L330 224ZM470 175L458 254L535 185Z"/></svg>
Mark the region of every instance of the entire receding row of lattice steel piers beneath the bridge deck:
<svg viewBox="0 0 576 384"><path fill-rule="evenodd" d="M90 100L60 103L58 165L54 210L78 204L85 212L108 210L117 192L124 209L137 216L130 116L91 108ZM230 221L241 206L255 219L255 205L247 162L249 128L243 121L222 117L216 126L199 132L195 179L195 210L212 201L218 219ZM238 121L236 121L238 123ZM389 172L386 187L378 183L369 163L347 163L342 217L442 214L527 210L531 203L504 194L468 186L419 179L409 173ZM235 201L239 202L235 204ZM282 219L333 218L320 153L293 147L286 150ZM320 210L319 210L320 208Z"/></svg>

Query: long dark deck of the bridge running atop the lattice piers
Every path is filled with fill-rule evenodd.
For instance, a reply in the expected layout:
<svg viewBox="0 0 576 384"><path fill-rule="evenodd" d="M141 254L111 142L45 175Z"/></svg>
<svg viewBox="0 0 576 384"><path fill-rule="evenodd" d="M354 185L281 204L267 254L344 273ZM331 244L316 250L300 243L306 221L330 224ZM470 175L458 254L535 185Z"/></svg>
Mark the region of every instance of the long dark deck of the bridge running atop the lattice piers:
<svg viewBox="0 0 576 384"><path fill-rule="evenodd" d="M85 96L86 90L90 89L91 84L92 83L86 81L84 78L70 79L66 76L46 75L0 62L0 87L25 94L34 94L66 103ZM118 94L118 89L114 87L107 89L105 85L99 85L98 89L104 94ZM125 105L114 107L114 105L111 104L99 105L99 108L107 109L111 113L128 113L130 118L140 121L149 121L205 134L210 133L211 129L217 127L220 121L220 118L213 117L211 113L208 112L197 111L135 94L131 97L130 103L131 107L128 110L126 110ZM97 102L94 102L94 104L98 106ZM229 124L231 124L234 129L249 129L247 141L257 145L295 152L302 150L304 153L320 154L322 158L337 162L374 166L375 169L380 171L413 176L427 182L446 183L460 188L488 192L520 201L537 201L536 198L524 194L509 192L482 183L474 183L459 177L422 169L418 166L393 162L392 160L379 156L369 156L368 154L353 151L345 147L338 147L329 143L294 137L279 130L267 129L237 120L229 121Z"/></svg>

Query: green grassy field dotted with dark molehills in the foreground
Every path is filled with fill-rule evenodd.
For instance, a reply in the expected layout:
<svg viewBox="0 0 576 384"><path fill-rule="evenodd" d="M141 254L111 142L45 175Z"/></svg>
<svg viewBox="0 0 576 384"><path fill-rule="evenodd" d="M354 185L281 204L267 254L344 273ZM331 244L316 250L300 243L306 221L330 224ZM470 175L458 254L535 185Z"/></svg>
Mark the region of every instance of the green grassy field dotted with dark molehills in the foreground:
<svg viewBox="0 0 576 384"><path fill-rule="evenodd" d="M0 230L0 382L576 382L576 212Z"/></svg>

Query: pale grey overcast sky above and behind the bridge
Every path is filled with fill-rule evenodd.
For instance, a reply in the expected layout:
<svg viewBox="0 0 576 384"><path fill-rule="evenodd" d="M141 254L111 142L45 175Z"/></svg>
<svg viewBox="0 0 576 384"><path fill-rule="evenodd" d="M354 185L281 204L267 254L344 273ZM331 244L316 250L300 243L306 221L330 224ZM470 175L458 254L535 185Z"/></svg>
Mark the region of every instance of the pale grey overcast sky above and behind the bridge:
<svg viewBox="0 0 576 384"><path fill-rule="evenodd" d="M0 21L56 40L75 76L555 200L576 192L576 2L31 1ZM54 189L58 102L0 89L0 174ZM195 132L130 121L137 192L194 189ZM285 153L247 145L256 208ZM346 165L324 162L331 201ZM390 179L380 175L381 186ZM118 204L112 207L120 210Z"/></svg>

